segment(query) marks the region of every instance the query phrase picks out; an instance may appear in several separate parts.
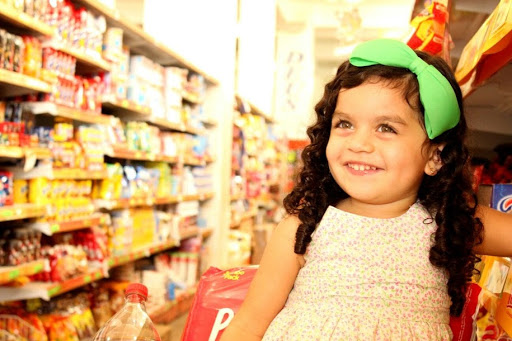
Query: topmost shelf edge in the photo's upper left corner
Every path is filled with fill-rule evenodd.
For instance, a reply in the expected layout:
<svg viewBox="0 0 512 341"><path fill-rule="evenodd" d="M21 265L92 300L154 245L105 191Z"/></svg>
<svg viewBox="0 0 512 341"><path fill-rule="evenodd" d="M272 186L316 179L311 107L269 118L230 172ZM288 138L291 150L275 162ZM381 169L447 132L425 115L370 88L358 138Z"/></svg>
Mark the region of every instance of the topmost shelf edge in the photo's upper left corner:
<svg viewBox="0 0 512 341"><path fill-rule="evenodd" d="M53 36L55 34L55 29L51 26L5 3L0 3L0 20L16 27L14 33L42 36Z"/></svg>

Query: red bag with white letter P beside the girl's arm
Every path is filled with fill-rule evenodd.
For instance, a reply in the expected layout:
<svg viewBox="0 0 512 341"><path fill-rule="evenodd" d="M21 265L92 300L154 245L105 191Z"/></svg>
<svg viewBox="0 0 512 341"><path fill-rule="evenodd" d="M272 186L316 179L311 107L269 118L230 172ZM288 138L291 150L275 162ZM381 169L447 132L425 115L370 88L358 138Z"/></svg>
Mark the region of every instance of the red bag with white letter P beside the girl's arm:
<svg viewBox="0 0 512 341"><path fill-rule="evenodd" d="M257 266L210 267L199 281L181 340L219 340L242 305L257 270Z"/></svg>

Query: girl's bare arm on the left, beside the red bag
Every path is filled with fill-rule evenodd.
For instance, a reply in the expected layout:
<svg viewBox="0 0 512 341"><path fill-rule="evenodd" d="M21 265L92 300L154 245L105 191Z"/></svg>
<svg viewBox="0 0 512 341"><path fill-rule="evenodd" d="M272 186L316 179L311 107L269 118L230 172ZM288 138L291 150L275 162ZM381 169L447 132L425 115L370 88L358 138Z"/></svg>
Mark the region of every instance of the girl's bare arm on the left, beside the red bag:
<svg viewBox="0 0 512 341"><path fill-rule="evenodd" d="M275 228L247 297L221 341L261 340L281 311L303 264L303 256L293 252L299 224L298 218L289 216Z"/></svg>

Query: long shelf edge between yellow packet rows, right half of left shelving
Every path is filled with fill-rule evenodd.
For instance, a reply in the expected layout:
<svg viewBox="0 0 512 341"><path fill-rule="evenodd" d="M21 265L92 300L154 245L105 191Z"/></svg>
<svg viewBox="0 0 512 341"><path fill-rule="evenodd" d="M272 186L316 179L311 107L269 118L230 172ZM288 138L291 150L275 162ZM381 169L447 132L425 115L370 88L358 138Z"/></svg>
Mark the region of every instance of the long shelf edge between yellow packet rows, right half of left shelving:
<svg viewBox="0 0 512 341"><path fill-rule="evenodd" d="M98 209L115 210L121 208L130 208L138 206L154 206L175 204L183 201L204 201L213 198L213 193L201 194L187 194L187 195L170 195L168 197L160 198L125 198L125 199L112 199L104 200L98 199L95 201L95 206Z"/></svg>

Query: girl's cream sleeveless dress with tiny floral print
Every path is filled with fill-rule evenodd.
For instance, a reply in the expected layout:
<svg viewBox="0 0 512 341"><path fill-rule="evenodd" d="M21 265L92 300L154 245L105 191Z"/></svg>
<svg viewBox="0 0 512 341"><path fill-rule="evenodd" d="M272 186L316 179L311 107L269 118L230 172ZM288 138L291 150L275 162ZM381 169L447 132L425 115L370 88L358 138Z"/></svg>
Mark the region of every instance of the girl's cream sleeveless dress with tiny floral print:
<svg viewBox="0 0 512 341"><path fill-rule="evenodd" d="M428 259L436 228L418 203L390 219L329 206L263 340L451 340L448 275Z"/></svg>

